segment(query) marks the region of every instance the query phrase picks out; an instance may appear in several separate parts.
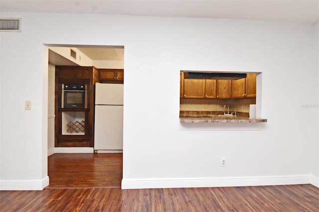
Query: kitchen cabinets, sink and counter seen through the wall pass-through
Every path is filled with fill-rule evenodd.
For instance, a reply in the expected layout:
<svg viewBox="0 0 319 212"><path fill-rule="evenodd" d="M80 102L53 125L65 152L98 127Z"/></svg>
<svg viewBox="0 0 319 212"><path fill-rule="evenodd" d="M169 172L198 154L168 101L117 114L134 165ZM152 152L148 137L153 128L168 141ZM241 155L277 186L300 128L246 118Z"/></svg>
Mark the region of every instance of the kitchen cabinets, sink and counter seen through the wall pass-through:
<svg viewBox="0 0 319 212"><path fill-rule="evenodd" d="M257 73L180 72L181 123L267 122L256 118Z"/></svg>

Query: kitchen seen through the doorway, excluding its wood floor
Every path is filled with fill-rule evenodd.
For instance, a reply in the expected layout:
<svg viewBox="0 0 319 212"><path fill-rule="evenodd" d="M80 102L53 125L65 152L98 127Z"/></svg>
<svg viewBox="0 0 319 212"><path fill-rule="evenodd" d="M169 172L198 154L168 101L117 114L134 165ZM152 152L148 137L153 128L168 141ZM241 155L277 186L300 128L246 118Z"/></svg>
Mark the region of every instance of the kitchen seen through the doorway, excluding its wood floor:
<svg viewBox="0 0 319 212"><path fill-rule="evenodd" d="M124 47L49 48L48 156L123 152L123 67Z"/></svg>

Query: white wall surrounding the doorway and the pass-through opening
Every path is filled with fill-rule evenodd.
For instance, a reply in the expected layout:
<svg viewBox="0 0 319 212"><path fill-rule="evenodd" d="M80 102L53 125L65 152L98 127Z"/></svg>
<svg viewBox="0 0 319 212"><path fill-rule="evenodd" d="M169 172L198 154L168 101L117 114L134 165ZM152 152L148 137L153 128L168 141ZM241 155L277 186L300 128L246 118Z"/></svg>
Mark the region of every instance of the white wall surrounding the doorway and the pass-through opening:
<svg viewBox="0 0 319 212"><path fill-rule="evenodd" d="M319 185L318 151L312 151L318 149L318 107L307 106L319 98L315 25L124 15L1 16L22 17L23 22L22 32L0 34L1 189L17 182L24 183L19 189L30 182L39 189L46 183L43 44L125 46L122 188ZM261 130L181 125L180 70L262 72L261 114L268 122L258 125ZM19 86L12 87L13 82ZM32 110L24 110L25 100L32 101ZM250 126L256 128L244 128ZM221 157L227 158L226 167L220 166Z"/></svg>

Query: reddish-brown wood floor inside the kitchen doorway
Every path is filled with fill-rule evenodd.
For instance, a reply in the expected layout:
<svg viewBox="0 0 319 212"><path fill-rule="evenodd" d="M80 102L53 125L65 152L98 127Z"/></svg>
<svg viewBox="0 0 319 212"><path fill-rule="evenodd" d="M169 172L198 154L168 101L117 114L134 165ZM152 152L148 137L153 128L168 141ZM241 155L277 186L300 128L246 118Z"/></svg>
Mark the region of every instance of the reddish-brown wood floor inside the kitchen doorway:
<svg viewBox="0 0 319 212"><path fill-rule="evenodd" d="M48 157L48 188L121 188L122 153L55 153Z"/></svg>

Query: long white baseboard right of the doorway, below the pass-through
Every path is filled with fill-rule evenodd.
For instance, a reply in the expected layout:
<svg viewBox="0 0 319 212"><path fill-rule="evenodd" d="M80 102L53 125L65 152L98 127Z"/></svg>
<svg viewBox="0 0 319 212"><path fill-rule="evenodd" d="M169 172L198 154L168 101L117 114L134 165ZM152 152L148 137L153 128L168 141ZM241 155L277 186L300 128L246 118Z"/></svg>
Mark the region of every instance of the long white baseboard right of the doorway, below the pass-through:
<svg viewBox="0 0 319 212"><path fill-rule="evenodd" d="M293 185L293 184L313 184L314 185L314 183L316 184L316 178L314 178L311 175L234 177L234 178L232 177L164 178L164 179L152 178L152 179L123 179L122 189L237 187L237 186ZM317 183L318 183L318 179L317 179Z"/></svg>

